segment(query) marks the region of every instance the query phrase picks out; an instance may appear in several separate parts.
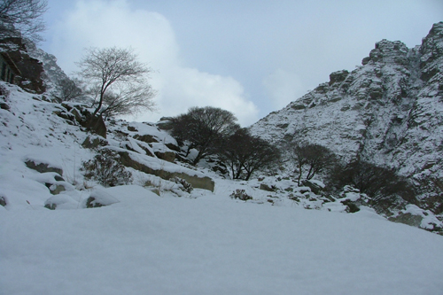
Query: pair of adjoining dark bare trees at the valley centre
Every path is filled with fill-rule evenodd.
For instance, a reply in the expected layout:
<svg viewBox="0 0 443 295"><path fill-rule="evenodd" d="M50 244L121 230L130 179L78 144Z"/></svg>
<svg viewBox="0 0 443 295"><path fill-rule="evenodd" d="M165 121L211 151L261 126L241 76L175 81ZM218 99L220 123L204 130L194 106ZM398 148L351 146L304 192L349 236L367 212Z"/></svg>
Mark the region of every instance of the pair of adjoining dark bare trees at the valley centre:
<svg viewBox="0 0 443 295"><path fill-rule="evenodd" d="M280 151L247 129L240 128L233 113L220 108L192 107L171 119L171 134L187 144L186 155L197 150L192 164L217 155L229 167L232 178L248 180L253 172L270 167L280 158Z"/></svg>

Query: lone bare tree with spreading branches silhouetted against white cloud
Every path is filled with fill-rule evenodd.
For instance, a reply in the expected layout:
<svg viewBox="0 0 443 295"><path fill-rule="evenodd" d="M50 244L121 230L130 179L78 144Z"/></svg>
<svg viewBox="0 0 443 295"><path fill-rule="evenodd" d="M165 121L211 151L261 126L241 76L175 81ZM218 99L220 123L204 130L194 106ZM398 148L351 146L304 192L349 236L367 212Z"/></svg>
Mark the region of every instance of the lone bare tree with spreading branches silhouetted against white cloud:
<svg viewBox="0 0 443 295"><path fill-rule="evenodd" d="M155 91L147 76L152 69L139 62L132 49L89 48L76 64L80 67L77 74L89 85L94 116L152 111Z"/></svg>

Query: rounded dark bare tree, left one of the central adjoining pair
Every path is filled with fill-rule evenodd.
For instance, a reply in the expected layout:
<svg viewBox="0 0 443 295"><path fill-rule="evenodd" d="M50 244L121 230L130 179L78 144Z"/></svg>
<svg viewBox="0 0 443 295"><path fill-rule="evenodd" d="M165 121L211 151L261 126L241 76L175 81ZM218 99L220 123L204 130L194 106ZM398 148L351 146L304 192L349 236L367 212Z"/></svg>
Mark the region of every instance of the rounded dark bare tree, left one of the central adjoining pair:
<svg viewBox="0 0 443 295"><path fill-rule="evenodd" d="M238 128L237 118L233 113L221 108L191 107L188 113L171 119L171 134L179 141L189 142L186 157L190 149L197 149L198 155L193 159L197 165L200 159L214 154L220 139L232 135Z"/></svg>

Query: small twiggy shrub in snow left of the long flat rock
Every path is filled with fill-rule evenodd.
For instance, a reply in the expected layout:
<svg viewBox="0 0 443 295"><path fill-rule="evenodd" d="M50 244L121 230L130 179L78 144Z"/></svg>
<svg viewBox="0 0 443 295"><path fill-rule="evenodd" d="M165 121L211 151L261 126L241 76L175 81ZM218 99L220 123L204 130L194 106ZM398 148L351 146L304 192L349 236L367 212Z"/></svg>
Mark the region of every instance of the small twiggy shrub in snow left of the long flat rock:
<svg viewBox="0 0 443 295"><path fill-rule="evenodd" d="M131 182L132 174L118 163L119 155L110 150L101 150L89 161L82 162L86 180L95 180L103 186L116 186Z"/></svg>

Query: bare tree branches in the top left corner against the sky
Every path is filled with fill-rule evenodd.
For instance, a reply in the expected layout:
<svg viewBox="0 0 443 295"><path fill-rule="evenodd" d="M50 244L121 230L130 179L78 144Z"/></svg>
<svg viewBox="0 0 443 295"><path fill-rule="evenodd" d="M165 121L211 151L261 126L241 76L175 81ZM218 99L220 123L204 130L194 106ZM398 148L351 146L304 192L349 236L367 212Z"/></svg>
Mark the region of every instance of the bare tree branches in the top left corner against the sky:
<svg viewBox="0 0 443 295"><path fill-rule="evenodd" d="M45 0L0 1L0 38L24 37L34 42L42 41L45 30L43 13L47 11Z"/></svg>

